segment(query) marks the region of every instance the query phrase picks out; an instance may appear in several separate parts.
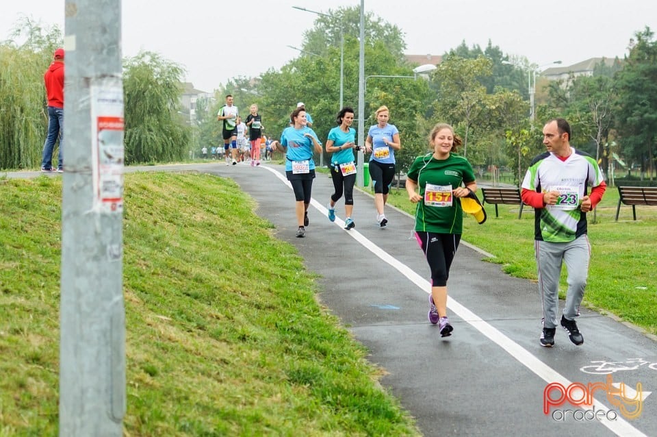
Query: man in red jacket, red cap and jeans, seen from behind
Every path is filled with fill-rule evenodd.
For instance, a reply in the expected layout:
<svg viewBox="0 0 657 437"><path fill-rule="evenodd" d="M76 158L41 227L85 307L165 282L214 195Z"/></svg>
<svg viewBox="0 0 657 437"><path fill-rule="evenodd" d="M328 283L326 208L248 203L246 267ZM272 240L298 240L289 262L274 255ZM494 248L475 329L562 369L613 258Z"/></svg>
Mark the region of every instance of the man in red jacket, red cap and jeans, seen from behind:
<svg viewBox="0 0 657 437"><path fill-rule="evenodd" d="M48 136L43 145L41 171L53 171L53 149L60 138L57 171L64 171L64 49L53 54L53 63L43 75L48 97Z"/></svg>

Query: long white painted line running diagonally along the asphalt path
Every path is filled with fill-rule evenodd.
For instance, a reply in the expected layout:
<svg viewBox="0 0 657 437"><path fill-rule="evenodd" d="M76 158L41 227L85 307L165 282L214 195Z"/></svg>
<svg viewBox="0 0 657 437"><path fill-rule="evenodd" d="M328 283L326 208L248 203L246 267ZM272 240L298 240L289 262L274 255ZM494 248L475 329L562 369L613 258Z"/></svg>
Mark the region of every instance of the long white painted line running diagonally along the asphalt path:
<svg viewBox="0 0 657 437"><path fill-rule="evenodd" d="M290 189L292 189L292 184L287 181L284 175L281 175L276 169L271 168L271 167L263 167L267 168L267 170L271 171L283 181ZM329 210L326 209L325 206L321 205L318 201L315 199L311 199L311 205L313 205L317 210L319 210L322 214L326 215L329 213ZM339 218L335 218L335 223L336 225L339 225L339 227L344 227L344 221L340 220ZM418 288L426 292L427 294L431 290L431 286L429 282L422 278L420 275L415 273L412 269L409 268L406 264L403 264L402 262L399 262L394 258L393 256L389 255L386 251L381 249L381 247L378 247L375 245L372 241L368 240L368 238L365 238L363 234L358 232L356 229L351 229L350 231L345 231L347 234L349 234L352 238L357 240L363 247L367 248L370 252L374 253L374 255L378 256L378 258L381 258L381 260L385 261L389 266L393 267L397 271L399 271L402 275L407 277L413 284L415 284ZM518 360L520 364L524 365L527 369L530 371L534 372L536 375L541 377L543 381L547 382L548 384L551 382L558 382L563 384L563 386L567 387L571 384L571 381L561 375L561 373L558 373L552 367L548 366L548 364L545 364L538 358L536 358L530 351L525 349L524 347L521 347L518 345L516 342L511 340L511 338L508 338L502 332L500 332L498 329L481 319L479 316L474 314L474 312L468 310L465 308L465 306L461 305L461 303L455 301L452 299L452 297L448 297L447 301L447 306L456 314L459 316L465 323L468 323L474 329L476 329L478 332L483 334L485 337L489 338L493 343L496 345L500 346L504 351L506 351L509 355L511 355L513 358ZM617 417L616 421L609 421L606 419L606 412L608 412L609 408L606 407L602 402L597 401L597 399L593 399L593 405L595 405L596 410L602 410L605 412L605 415L600 419L600 423L602 425L605 425L608 427L611 432L616 434L617 436L636 436L636 437L647 437L643 432L639 431L639 429L636 429L628 421L625 419L621 418L620 416Z"/></svg>

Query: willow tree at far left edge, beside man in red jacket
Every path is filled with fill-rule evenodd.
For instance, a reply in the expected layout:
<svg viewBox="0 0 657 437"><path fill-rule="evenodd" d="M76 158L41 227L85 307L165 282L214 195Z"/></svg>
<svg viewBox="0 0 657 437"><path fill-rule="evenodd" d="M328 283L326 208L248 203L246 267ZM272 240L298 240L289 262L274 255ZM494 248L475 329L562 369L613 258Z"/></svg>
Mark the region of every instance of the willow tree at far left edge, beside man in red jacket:
<svg viewBox="0 0 657 437"><path fill-rule="evenodd" d="M43 74L61 45L58 27L29 18L0 42L0 168L34 168L41 162L48 126Z"/></svg>

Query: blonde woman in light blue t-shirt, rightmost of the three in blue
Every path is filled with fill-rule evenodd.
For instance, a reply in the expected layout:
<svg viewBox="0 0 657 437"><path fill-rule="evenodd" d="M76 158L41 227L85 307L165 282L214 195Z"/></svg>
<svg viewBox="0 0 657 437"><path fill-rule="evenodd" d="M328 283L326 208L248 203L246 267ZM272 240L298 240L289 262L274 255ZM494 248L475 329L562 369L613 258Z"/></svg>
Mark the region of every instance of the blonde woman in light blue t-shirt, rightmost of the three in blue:
<svg viewBox="0 0 657 437"><path fill-rule="evenodd" d="M370 156L370 176L374 185L374 206L376 221L381 227L387 225L383 207L388 199L388 191L395 177L395 151L402 148L399 131L395 125L389 125L390 111L387 106L376 110L376 125L371 126L365 140L365 150Z"/></svg>

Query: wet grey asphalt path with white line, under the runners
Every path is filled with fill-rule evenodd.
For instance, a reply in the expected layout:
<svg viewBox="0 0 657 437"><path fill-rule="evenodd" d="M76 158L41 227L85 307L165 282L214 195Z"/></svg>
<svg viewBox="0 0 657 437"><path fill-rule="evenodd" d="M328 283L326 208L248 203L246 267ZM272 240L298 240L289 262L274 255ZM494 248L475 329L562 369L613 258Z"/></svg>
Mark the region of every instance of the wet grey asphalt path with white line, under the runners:
<svg viewBox="0 0 657 437"><path fill-rule="evenodd" d="M355 190L356 227L346 231L344 199L331 223L326 203L333 184L318 173L306 236L296 238L283 166L125 169L185 170L234 179L257 201L257 214L274 224L276 238L294 245L307 269L321 276L320 300L385 369L381 383L425 436L657 436L657 394L650 394L657 388L657 342L640 329L582 309L584 345L557 329L556 345L541 347L536 284L483 261L490 254L469 245L465 234L448 282L454 332L442 338L427 320L429 270L409 214L387 206L389 225L381 229L372 197Z"/></svg>

